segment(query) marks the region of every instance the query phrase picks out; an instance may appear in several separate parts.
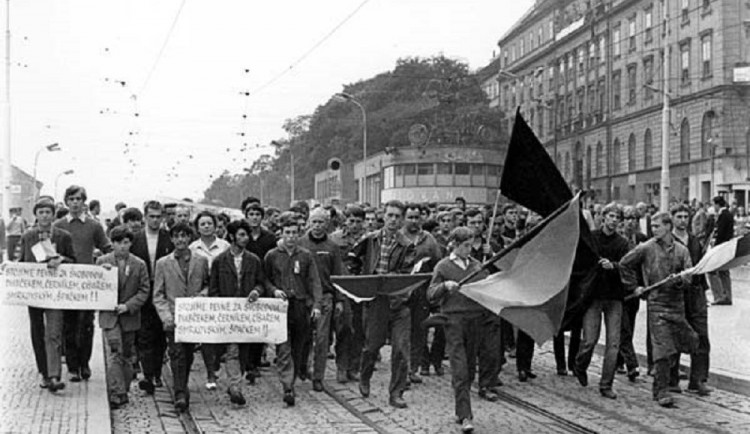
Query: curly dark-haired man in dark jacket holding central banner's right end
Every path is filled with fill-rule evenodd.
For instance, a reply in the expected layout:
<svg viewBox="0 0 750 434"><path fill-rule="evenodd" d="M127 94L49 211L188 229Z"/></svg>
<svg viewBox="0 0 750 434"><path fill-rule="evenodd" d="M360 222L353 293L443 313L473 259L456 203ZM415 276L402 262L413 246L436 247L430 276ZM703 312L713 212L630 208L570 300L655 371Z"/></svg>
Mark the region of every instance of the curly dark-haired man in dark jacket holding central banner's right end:
<svg viewBox="0 0 750 434"><path fill-rule="evenodd" d="M260 259L245 247L250 240L250 225L237 220L227 225L229 249L220 253L211 267L209 297L244 297L254 302L266 293L263 266ZM229 380L229 400L237 405L245 404L242 395L242 369L240 347L247 344L226 344L225 367ZM214 351L214 354L218 352Z"/></svg>

